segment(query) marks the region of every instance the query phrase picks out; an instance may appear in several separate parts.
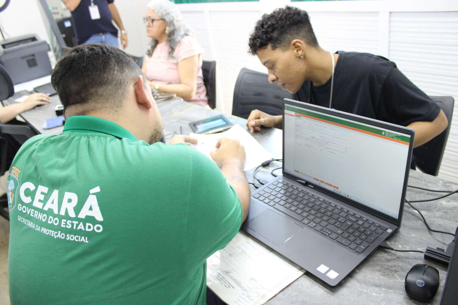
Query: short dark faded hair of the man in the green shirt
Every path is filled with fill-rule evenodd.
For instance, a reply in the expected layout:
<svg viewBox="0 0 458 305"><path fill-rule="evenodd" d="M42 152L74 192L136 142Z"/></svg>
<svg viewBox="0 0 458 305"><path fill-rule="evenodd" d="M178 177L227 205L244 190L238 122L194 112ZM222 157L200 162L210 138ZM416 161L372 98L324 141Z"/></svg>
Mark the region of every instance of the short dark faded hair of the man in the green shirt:
<svg viewBox="0 0 458 305"><path fill-rule="evenodd" d="M84 115L95 109L117 110L129 86L143 75L131 56L99 43L76 46L56 64L51 83L64 105L65 116Z"/></svg>

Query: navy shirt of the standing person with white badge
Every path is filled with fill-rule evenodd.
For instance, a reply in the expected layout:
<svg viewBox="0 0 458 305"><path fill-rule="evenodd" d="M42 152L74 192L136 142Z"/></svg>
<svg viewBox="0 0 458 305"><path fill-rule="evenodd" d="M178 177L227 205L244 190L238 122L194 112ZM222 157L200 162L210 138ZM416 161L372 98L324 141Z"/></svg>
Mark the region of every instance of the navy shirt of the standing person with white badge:
<svg viewBox="0 0 458 305"><path fill-rule="evenodd" d="M98 6L100 19L92 20L89 14L91 0L81 0L76 9L71 12L78 44L84 43L89 37L97 33L109 32L118 37L118 30L111 22L111 11L108 8L108 5L113 2L114 0L93 0L94 5Z"/></svg>

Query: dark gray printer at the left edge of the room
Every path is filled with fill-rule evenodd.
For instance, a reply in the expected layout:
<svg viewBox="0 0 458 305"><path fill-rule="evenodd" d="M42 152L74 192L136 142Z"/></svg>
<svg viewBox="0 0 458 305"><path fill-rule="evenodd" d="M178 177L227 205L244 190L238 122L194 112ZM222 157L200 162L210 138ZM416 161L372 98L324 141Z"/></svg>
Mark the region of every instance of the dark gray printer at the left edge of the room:
<svg viewBox="0 0 458 305"><path fill-rule="evenodd" d="M27 80L51 74L48 43L36 34L26 34L0 41L0 64L13 81L19 84Z"/></svg>

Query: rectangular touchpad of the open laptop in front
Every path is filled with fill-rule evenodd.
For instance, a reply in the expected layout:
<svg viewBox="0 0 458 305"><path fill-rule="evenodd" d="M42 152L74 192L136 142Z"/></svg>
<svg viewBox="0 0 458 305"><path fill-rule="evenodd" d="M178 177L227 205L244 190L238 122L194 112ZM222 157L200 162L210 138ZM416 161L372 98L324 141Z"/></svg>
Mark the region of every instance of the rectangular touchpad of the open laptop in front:
<svg viewBox="0 0 458 305"><path fill-rule="evenodd" d="M282 246L285 241L302 230L300 225L269 209L251 219L246 226L277 246Z"/></svg>

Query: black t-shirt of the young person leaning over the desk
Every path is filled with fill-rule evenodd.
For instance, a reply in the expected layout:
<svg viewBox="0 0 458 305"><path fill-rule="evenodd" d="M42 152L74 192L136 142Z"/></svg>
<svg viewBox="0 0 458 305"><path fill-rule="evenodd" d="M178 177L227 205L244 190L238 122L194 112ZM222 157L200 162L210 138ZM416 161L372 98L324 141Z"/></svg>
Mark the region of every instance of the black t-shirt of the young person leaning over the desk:
<svg viewBox="0 0 458 305"><path fill-rule="evenodd" d="M392 61L367 53L337 53L332 108L402 126L431 122L439 114L441 108ZM330 91L331 79L322 86L306 80L293 98L329 107Z"/></svg>

